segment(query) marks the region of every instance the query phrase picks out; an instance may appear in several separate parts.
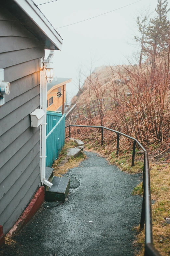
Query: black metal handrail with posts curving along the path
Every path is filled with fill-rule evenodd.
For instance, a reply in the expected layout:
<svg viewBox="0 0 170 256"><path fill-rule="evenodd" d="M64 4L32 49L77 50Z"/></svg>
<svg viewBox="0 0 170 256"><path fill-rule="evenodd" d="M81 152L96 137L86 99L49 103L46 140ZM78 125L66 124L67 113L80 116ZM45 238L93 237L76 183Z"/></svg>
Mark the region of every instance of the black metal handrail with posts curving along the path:
<svg viewBox="0 0 170 256"><path fill-rule="evenodd" d="M69 128L69 135L71 137L70 127L85 127L85 128L100 128L101 129L101 145L103 145L103 129L113 131L117 133L117 149L116 154L119 153L119 136L122 135L130 140L133 140L133 152L132 152L132 166L134 166L135 161L135 148L137 145L144 152L144 165L143 165L143 200L142 200L142 211L141 211L141 219L140 219L140 231L144 229L145 226L145 253L144 256L161 256L160 253L153 246L152 239L152 215L151 215L151 195L150 195L150 170L149 170L149 158L147 150L138 142L137 139L126 135L120 131L112 130L110 128L106 128L103 126L90 126L90 125L67 125L65 128Z"/></svg>

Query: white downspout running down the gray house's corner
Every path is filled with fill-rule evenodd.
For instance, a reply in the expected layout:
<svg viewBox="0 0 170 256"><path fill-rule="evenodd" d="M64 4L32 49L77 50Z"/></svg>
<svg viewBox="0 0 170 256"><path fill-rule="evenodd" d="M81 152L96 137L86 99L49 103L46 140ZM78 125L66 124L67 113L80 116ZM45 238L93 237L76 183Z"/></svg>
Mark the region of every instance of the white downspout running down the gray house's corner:
<svg viewBox="0 0 170 256"><path fill-rule="evenodd" d="M42 60L42 59L41 59ZM42 60L43 61L43 60ZM43 63L41 62L41 68ZM41 123L41 150L40 150L40 161L41 161L41 183L49 187L52 183L46 180L46 116L47 116L47 81L44 76L44 70L40 71L40 88L41 88L41 109L43 109L45 115Z"/></svg>

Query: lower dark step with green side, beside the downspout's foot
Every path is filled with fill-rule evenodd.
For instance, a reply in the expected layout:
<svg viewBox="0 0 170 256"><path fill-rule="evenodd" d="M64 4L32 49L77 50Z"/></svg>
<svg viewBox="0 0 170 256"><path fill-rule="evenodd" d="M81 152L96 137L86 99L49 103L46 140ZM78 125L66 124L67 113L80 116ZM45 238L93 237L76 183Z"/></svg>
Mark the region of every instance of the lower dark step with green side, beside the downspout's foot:
<svg viewBox="0 0 170 256"><path fill-rule="evenodd" d="M51 182L53 185L51 188L45 191L45 201L62 201L64 202L68 195L70 187L70 179L67 177L56 177L54 176Z"/></svg>

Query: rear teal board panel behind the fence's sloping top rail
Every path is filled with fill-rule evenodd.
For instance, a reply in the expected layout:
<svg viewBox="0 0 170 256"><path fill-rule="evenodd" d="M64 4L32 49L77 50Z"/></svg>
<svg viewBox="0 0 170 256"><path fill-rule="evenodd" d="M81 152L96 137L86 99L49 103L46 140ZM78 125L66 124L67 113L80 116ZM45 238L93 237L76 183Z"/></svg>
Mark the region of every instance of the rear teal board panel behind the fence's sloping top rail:
<svg viewBox="0 0 170 256"><path fill-rule="evenodd" d="M55 111L47 111L47 126L46 126L46 136L52 130L52 128L58 123L62 113L57 113Z"/></svg>

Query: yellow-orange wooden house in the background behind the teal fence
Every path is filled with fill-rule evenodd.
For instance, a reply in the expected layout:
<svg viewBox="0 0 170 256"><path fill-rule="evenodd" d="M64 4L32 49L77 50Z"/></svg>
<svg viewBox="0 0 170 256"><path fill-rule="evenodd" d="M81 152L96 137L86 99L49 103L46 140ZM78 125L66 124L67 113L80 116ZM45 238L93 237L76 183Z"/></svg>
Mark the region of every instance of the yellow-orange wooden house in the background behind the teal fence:
<svg viewBox="0 0 170 256"><path fill-rule="evenodd" d="M65 112L65 89L66 83L71 82L71 78L54 77L47 86L47 111ZM61 93L61 96L57 96Z"/></svg>

